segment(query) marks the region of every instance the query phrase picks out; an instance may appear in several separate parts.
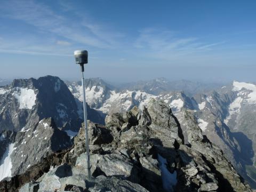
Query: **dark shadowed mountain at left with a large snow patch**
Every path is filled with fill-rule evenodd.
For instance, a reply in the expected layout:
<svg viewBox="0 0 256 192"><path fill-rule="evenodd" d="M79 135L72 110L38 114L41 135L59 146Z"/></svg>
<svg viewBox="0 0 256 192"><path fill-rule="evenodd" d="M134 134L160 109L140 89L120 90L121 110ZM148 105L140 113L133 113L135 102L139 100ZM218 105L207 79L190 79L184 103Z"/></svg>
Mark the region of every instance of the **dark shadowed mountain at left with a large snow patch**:
<svg viewBox="0 0 256 192"><path fill-rule="evenodd" d="M77 120L81 110L81 102L58 77L14 79L10 85L0 87L0 131L20 131L23 127L27 130L47 117L62 127L72 119ZM90 107L87 111L89 119L102 123L97 111ZM73 128L78 131L80 126Z"/></svg>

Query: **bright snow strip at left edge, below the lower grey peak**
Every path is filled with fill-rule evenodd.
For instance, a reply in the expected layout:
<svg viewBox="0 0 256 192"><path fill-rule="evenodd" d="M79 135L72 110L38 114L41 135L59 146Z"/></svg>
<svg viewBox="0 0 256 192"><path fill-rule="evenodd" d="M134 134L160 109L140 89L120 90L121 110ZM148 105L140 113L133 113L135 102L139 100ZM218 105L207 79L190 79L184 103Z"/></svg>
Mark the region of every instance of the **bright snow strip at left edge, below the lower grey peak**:
<svg viewBox="0 0 256 192"><path fill-rule="evenodd" d="M0 181L6 177L12 177L12 161L11 154L15 150L14 143L11 143L8 148L5 150L5 153L1 159L0 165Z"/></svg>

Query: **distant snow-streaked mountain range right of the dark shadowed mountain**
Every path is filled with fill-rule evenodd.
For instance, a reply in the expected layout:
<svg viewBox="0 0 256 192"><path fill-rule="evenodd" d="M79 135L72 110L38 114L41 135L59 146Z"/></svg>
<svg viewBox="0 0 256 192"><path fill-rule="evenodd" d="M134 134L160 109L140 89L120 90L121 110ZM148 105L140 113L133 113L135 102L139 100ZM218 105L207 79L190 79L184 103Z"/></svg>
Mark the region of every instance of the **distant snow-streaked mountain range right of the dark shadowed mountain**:
<svg viewBox="0 0 256 192"><path fill-rule="evenodd" d="M134 106L143 109L150 98L163 100L177 116L185 142L183 113L185 109L192 110L203 133L225 151L239 173L256 188L255 84L237 81L226 85L189 81L175 84L164 78L122 87L109 86L100 78L86 82L87 103L102 114L123 113ZM82 101L81 83L66 83ZM179 91L182 89L185 91Z"/></svg>

